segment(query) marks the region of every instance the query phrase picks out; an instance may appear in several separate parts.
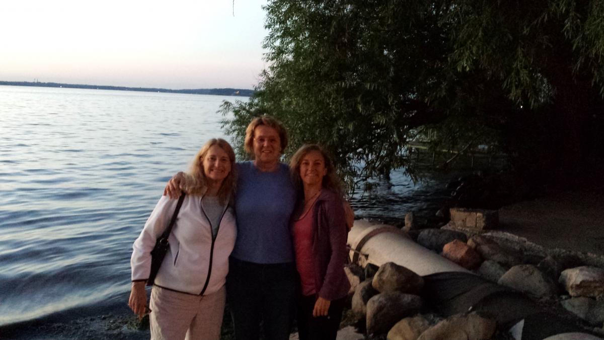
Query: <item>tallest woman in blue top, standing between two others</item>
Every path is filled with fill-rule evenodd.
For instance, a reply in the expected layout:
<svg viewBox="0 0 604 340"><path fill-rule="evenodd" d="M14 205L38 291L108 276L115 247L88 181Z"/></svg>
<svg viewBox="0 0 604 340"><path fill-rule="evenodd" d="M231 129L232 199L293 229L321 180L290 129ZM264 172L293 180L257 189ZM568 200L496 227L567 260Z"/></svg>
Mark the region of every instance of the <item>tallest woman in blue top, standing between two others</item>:
<svg viewBox="0 0 604 340"><path fill-rule="evenodd" d="M245 136L254 160L237 163L237 240L226 278L237 340L259 339L261 322L266 339L289 339L297 273L289 230L296 190L280 162L287 144L280 122L256 117ZM170 197L178 197L181 182L182 174L170 180Z"/></svg>

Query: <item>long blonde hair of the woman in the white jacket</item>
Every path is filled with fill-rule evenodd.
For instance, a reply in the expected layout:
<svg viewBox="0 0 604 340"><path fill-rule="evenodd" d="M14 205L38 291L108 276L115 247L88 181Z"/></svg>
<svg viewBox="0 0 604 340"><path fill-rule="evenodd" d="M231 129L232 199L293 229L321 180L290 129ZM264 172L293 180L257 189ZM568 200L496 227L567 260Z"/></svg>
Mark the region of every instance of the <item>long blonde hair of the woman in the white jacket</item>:
<svg viewBox="0 0 604 340"><path fill-rule="evenodd" d="M217 145L226 152L231 163L231 171L226 175L226 178L222 181L222 185L220 185L220 189L218 190L220 204L226 204L226 202L230 200L231 194L235 188L237 170L235 165L235 152L231 145L221 138L210 139L202 146L195 155L193 162L191 162L189 171L185 173L185 183L181 188L191 195L205 194L205 191L208 188L208 179L205 177L204 159L210 148L214 145Z"/></svg>

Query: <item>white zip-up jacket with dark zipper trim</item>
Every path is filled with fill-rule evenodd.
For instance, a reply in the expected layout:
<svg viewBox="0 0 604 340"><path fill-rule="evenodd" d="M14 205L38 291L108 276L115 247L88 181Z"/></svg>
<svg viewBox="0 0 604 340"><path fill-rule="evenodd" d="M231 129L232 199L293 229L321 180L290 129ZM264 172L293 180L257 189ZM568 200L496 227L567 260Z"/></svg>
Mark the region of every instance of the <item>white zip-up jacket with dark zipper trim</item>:
<svg viewBox="0 0 604 340"><path fill-rule="evenodd" d="M220 218L216 238L201 207L201 196L186 195L172 233L170 247L159 267L155 285L193 295L217 292L226 281L228 257L235 245L237 228L233 208L227 206ZM132 281L146 281L151 270L151 250L168 227L178 200L162 196L141 235L132 246Z"/></svg>

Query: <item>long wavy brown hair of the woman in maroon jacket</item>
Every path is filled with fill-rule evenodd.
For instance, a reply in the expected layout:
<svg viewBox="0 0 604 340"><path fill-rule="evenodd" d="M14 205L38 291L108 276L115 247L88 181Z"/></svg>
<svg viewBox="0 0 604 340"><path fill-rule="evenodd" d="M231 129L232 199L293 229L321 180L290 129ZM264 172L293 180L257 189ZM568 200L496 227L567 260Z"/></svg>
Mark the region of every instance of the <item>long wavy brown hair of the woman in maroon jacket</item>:
<svg viewBox="0 0 604 340"><path fill-rule="evenodd" d="M332 157L329 156L325 149L317 144L305 144L301 146L301 148L296 151L296 153L292 156L292 159L289 161L289 172L292 176L292 181L294 181L294 185L298 189L298 192L304 192L304 185L300 178L300 163L302 163L304 156L312 151L318 151L321 156L323 156L323 163L325 164L325 169L327 170L327 174L323 176L321 186L323 186L323 188L335 191L338 196L341 196L342 185L338 174L336 174L335 167L333 166Z"/></svg>

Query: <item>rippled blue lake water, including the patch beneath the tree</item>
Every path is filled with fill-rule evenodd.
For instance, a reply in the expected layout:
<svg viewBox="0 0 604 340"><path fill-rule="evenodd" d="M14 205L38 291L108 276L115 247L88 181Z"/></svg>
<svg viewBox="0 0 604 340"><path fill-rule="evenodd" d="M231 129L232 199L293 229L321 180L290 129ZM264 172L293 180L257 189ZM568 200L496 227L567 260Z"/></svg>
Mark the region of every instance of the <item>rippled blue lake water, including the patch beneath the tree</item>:
<svg viewBox="0 0 604 340"><path fill-rule="evenodd" d="M132 242L172 174L224 137L216 111L234 99L0 86L0 326L123 307ZM396 172L353 208L388 220L431 211L445 181Z"/></svg>

